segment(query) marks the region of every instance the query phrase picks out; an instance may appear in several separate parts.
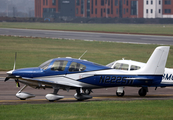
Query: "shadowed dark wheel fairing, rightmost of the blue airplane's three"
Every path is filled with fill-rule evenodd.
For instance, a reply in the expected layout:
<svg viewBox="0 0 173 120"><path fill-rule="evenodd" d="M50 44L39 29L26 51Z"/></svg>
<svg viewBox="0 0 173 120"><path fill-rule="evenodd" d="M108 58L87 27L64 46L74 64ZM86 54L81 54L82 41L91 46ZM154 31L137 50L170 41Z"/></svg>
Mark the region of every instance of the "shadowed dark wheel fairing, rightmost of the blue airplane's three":
<svg viewBox="0 0 173 120"><path fill-rule="evenodd" d="M77 88L76 89L76 94L74 94L74 98L76 98L78 101L83 101L86 99L91 99L92 96L86 94L86 93L82 93L82 88Z"/></svg>

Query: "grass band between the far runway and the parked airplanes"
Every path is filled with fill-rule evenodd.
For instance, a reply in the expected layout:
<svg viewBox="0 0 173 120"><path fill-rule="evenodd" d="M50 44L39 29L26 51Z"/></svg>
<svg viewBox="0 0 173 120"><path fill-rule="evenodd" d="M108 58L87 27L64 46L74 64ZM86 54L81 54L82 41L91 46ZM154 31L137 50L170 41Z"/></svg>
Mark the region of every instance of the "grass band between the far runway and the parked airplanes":
<svg viewBox="0 0 173 120"><path fill-rule="evenodd" d="M46 60L57 57L82 57L106 65L122 58L147 62L158 45L126 44L115 42L64 40L50 38L21 38L0 36L0 70L11 70L14 53L17 52L16 68L37 67ZM171 46L172 47L172 46ZM170 49L167 67L173 67L173 50Z"/></svg>

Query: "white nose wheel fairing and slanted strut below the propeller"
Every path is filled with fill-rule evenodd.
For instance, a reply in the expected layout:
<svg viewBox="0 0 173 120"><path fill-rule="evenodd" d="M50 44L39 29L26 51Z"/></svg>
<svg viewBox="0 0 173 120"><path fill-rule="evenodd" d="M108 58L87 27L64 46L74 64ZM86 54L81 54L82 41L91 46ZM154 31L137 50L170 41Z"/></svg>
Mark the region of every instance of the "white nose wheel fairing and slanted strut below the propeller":
<svg viewBox="0 0 173 120"><path fill-rule="evenodd" d="M16 97L18 97L20 100L26 100L28 98L35 97L35 95L33 95L33 94L22 92L26 87L27 87L27 85L25 85L22 89L20 89L16 93Z"/></svg>

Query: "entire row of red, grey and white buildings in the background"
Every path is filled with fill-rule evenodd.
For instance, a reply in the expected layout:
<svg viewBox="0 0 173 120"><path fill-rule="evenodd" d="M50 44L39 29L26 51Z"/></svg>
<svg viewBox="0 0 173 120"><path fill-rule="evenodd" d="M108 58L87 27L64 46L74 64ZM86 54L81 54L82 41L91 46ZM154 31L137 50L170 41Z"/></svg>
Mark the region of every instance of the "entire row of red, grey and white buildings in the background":
<svg viewBox="0 0 173 120"><path fill-rule="evenodd" d="M35 0L35 17L173 18L173 0Z"/></svg>

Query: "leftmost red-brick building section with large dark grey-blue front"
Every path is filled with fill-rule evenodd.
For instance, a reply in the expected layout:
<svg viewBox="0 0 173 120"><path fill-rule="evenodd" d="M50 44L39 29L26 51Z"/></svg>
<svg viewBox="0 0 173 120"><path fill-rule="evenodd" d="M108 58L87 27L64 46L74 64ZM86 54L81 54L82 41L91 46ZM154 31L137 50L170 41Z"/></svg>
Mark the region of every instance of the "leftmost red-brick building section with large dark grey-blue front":
<svg viewBox="0 0 173 120"><path fill-rule="evenodd" d="M35 17L75 17L75 0L35 0Z"/></svg>

